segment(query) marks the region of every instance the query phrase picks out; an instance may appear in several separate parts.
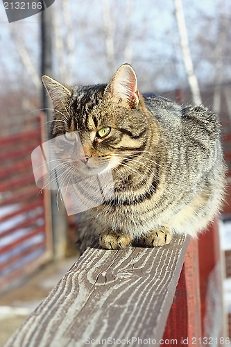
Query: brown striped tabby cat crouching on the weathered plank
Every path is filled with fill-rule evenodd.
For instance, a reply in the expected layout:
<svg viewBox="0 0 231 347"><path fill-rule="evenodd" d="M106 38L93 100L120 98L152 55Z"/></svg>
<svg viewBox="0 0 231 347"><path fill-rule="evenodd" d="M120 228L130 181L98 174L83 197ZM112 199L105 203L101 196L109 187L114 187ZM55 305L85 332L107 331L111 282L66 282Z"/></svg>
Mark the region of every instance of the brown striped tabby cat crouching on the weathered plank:
<svg viewBox="0 0 231 347"><path fill-rule="evenodd" d="M162 246L175 234L196 237L214 219L225 187L216 115L203 105L142 96L128 64L108 85L42 81L55 110L52 137L73 141L71 132L78 130L82 165L101 159L112 169L113 196L80 214L82 250L94 235L108 249L132 241ZM78 168L71 165L73 178Z"/></svg>

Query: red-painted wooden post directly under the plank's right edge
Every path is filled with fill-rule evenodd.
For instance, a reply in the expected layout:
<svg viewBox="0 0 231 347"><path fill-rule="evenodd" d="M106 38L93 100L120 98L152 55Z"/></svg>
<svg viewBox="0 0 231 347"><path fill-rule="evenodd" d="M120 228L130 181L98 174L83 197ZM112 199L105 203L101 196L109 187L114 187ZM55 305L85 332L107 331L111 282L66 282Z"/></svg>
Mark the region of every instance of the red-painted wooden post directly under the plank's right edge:
<svg viewBox="0 0 231 347"><path fill-rule="evenodd" d="M171 305L164 340L177 340L178 346L192 346L201 337L198 246L191 239ZM163 344L162 346L165 346Z"/></svg>

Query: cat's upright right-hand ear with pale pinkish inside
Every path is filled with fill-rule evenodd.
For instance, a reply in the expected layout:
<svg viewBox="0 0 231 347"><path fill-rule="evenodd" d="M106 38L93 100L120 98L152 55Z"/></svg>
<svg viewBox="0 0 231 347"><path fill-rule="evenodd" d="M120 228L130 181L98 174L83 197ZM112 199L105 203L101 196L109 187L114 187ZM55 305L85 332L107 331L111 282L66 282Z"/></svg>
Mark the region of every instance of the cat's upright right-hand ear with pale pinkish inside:
<svg viewBox="0 0 231 347"><path fill-rule="evenodd" d="M134 108L139 103L137 76L129 64L123 64L105 88L105 95L110 95L117 102L126 103Z"/></svg>

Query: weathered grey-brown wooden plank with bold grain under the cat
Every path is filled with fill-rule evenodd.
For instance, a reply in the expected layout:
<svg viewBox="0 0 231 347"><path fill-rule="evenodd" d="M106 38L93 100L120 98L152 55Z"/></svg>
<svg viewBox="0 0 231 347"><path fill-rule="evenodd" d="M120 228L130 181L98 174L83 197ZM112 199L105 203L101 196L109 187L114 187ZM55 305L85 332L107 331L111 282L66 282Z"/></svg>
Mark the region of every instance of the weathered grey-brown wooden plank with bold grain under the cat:
<svg viewBox="0 0 231 347"><path fill-rule="evenodd" d="M162 339L188 244L182 236L162 248L87 248L5 347Z"/></svg>

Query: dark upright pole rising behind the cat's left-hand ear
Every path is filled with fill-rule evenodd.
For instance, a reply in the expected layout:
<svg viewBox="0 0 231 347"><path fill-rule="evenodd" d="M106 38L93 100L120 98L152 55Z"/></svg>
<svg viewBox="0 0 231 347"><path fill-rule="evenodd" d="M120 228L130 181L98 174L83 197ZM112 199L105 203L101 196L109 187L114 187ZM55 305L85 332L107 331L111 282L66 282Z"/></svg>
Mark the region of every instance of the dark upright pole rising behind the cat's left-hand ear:
<svg viewBox="0 0 231 347"><path fill-rule="evenodd" d="M42 38L42 74L53 76L52 74L52 7L41 12L41 38ZM41 82L42 83L42 82ZM49 96L46 94L45 88L42 90L42 108L46 113L46 139L50 139L50 127L53 120L53 112ZM58 198L57 191L49 191L51 197L51 235L53 238L53 259L55 261L62 260L65 257L67 248L67 213L65 205ZM47 212L46 212L47 213Z"/></svg>

